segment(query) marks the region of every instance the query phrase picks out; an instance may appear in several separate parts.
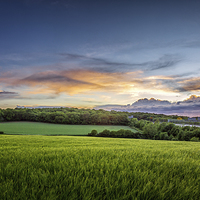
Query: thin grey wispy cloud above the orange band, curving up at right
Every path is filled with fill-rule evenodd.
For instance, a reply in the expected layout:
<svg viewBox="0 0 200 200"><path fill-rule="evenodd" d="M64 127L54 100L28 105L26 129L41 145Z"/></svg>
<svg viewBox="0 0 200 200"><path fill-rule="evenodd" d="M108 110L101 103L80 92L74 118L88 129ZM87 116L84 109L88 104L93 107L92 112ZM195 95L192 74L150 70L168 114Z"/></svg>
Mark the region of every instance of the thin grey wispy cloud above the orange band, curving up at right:
<svg viewBox="0 0 200 200"><path fill-rule="evenodd" d="M153 71L175 66L182 58L178 55L164 55L156 61L143 63L112 62L102 58L88 57L85 55L61 53L60 56L68 61L79 62L88 70L95 70L102 73L131 72L137 70Z"/></svg>

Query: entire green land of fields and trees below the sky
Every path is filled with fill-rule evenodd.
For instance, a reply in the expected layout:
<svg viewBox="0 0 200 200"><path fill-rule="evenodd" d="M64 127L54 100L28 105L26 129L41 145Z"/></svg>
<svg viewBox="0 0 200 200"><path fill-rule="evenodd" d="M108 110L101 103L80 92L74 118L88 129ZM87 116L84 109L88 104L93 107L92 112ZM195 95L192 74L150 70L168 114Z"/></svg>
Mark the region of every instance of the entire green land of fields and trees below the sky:
<svg viewBox="0 0 200 200"><path fill-rule="evenodd" d="M0 199L198 199L200 128L134 114L1 110Z"/></svg>

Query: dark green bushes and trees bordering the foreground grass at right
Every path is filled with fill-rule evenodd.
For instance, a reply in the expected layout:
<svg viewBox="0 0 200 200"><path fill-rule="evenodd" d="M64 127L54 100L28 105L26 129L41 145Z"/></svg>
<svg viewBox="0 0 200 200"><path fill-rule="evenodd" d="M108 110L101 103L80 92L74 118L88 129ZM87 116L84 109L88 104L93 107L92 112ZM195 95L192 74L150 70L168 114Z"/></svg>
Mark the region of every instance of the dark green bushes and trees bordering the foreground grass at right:
<svg viewBox="0 0 200 200"><path fill-rule="evenodd" d="M150 122L147 120L130 120L130 127L138 130L109 131L104 130L97 133L92 130L89 136L97 137L119 137L119 138L136 138L136 139L153 139L153 140L172 140L172 141L200 141L200 128L195 126L177 126L167 122Z"/></svg>

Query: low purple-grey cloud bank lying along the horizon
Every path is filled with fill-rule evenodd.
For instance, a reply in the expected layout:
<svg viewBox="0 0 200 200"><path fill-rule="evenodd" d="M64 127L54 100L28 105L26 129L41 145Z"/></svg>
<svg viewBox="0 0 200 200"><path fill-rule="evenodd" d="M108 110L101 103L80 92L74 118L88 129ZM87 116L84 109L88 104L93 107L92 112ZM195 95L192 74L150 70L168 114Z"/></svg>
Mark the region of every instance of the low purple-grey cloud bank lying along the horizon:
<svg viewBox="0 0 200 200"><path fill-rule="evenodd" d="M107 111L115 110L117 112L142 112L142 113L154 113L154 114L164 114L164 115L177 115L185 117L200 117L198 109L200 107L200 96L191 95L189 98L178 101L170 102L168 100L160 100L154 98L143 98L138 99L132 104L106 104L94 107L77 107L77 106L46 106L46 105L16 105L14 108L77 108L77 109L103 109ZM7 109L7 108L4 108ZM195 110L195 111L193 111Z"/></svg>

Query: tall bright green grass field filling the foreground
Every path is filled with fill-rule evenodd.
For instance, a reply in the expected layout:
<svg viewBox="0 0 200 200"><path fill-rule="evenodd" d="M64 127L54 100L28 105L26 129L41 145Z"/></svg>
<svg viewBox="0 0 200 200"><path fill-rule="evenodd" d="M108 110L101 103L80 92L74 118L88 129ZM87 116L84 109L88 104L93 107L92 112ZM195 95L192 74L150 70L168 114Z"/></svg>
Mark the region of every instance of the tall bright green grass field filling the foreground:
<svg viewBox="0 0 200 200"><path fill-rule="evenodd" d="M199 199L200 145L0 136L0 199Z"/></svg>

